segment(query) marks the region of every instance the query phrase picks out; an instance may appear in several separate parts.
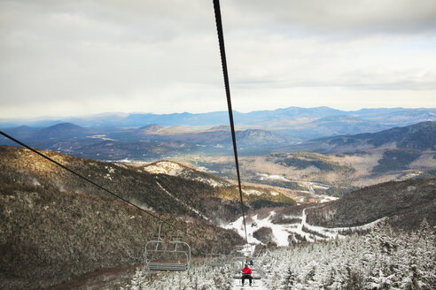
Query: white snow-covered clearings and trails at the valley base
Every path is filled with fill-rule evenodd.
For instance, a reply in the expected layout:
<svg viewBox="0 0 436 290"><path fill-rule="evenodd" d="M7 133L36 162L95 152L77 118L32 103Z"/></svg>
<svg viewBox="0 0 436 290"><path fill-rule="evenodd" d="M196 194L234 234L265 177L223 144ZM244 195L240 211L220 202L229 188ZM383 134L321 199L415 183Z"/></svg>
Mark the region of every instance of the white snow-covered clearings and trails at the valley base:
<svg viewBox="0 0 436 290"><path fill-rule="evenodd" d="M273 238L272 241L276 242L279 247L289 246L289 240L291 239L294 242L298 242L294 234L300 236L305 240L313 242L315 240L331 240L335 238L344 238L345 236L341 233L348 231L358 231L358 230L366 230L372 228L374 225L377 225L379 222L385 219L380 218L376 221L371 222L367 225L353 226L353 227L336 227L336 228L327 228L323 226L309 225L307 222L307 214L306 210L302 211L301 216L283 216L284 218L291 219L300 219L299 223L292 224L274 224L272 222L273 217L276 215L276 212L273 210L269 213L268 217L258 218L258 215L253 215L251 218L253 222L251 224L246 225L246 232L249 237L249 242L253 242L256 244L261 244L261 240L257 240L253 237L253 233L257 230L261 229L261 227L268 227L272 230ZM225 229L233 229L236 230L237 233L241 237L245 237L243 218L239 217L236 221L231 222L229 225L222 225Z"/></svg>

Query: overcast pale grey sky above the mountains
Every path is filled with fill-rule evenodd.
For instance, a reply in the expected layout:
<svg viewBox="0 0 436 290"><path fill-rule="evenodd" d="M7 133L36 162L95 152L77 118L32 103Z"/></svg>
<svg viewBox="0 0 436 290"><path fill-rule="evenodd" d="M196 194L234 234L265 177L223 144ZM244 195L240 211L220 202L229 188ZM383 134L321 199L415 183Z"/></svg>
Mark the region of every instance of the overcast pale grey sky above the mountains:
<svg viewBox="0 0 436 290"><path fill-rule="evenodd" d="M434 0L222 0L233 109L436 107ZM225 111L212 0L0 0L0 118Z"/></svg>

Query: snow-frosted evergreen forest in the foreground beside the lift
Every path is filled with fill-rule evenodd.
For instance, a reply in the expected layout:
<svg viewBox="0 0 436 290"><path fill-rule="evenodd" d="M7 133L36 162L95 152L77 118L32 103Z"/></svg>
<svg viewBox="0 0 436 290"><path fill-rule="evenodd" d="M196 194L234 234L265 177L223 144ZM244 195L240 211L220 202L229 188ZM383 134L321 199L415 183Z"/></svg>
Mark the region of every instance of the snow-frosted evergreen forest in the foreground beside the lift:
<svg viewBox="0 0 436 290"><path fill-rule="evenodd" d="M261 289L431 290L436 285L436 234L424 220L417 232L377 225L341 240L263 248ZM195 264L191 273L149 274L142 268L123 290L230 289L235 265Z"/></svg>

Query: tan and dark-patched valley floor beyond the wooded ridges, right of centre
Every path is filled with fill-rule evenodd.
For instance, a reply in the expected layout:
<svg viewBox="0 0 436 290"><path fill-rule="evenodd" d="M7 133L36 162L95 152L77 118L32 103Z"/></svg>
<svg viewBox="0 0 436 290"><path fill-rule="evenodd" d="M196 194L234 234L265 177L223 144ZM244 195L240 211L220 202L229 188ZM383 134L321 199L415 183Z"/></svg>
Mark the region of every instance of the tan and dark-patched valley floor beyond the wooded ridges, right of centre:
<svg viewBox="0 0 436 290"><path fill-rule="evenodd" d="M435 176L436 152L370 149L347 154L274 153L240 157L245 182L284 187L294 194L341 196L361 187ZM181 156L202 171L235 179L231 156ZM304 197L304 196L302 196Z"/></svg>

